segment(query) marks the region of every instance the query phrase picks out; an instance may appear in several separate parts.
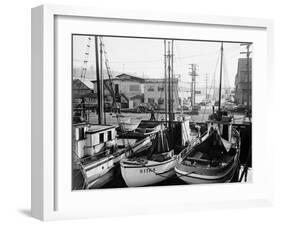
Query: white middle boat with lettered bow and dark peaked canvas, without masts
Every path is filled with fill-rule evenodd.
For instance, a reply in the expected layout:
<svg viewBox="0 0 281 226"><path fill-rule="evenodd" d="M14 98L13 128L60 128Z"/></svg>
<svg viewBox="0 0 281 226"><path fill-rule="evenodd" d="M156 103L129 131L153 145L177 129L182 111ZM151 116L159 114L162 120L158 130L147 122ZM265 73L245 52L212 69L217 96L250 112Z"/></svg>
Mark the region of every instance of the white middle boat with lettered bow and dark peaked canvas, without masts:
<svg viewBox="0 0 281 226"><path fill-rule="evenodd" d="M177 156L169 149L166 130L157 132L151 148L144 155L121 160L121 174L128 187L159 183L175 174Z"/></svg>

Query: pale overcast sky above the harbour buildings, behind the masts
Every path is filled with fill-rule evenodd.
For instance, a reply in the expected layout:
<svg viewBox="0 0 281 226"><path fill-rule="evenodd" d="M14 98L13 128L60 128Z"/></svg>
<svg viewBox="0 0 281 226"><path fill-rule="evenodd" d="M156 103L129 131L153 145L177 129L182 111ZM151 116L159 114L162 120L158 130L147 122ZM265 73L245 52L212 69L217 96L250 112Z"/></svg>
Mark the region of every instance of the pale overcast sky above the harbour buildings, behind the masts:
<svg viewBox="0 0 281 226"><path fill-rule="evenodd" d="M163 40L104 37L103 42L112 71L145 78L164 78ZM82 68L87 43L87 36L73 37L74 67ZM182 84L189 86L188 65L194 63L199 67L198 87L205 87L206 76L210 86L214 75L218 86L220 45L220 42L174 41L174 73L181 75ZM244 57L240 51L245 51L245 47L239 43L224 43L223 86L234 87L238 58ZM94 39L90 43L87 67L95 68ZM86 80L93 79L93 75L86 75Z"/></svg>

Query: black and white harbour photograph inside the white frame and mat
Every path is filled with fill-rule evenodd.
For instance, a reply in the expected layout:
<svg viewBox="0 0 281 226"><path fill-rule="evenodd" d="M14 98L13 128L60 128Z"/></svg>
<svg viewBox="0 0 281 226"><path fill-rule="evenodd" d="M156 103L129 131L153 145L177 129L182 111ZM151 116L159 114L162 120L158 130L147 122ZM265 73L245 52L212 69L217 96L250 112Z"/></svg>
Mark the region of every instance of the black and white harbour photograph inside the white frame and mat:
<svg viewBox="0 0 281 226"><path fill-rule="evenodd" d="M252 182L253 43L71 45L72 190Z"/></svg>

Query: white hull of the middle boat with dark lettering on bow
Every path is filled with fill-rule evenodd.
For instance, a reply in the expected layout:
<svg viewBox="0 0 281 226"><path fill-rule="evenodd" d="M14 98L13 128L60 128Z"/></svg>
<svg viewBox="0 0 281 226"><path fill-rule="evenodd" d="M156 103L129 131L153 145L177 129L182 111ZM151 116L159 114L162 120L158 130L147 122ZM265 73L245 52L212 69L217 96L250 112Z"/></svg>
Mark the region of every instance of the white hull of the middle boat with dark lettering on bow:
<svg viewBox="0 0 281 226"><path fill-rule="evenodd" d="M175 175L177 157L164 162L148 161L134 164L130 160L121 161L121 174L128 187L141 187L159 183Z"/></svg>

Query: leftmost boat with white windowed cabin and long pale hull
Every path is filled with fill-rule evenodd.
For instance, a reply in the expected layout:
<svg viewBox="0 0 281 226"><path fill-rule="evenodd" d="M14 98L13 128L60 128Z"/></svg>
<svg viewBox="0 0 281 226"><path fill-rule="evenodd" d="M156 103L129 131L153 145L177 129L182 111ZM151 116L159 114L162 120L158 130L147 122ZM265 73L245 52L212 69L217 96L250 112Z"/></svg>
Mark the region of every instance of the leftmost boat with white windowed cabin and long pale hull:
<svg viewBox="0 0 281 226"><path fill-rule="evenodd" d="M84 189L100 188L110 182L121 159L137 156L152 146L155 134L119 138L116 126L74 125L73 170L79 170Z"/></svg>

